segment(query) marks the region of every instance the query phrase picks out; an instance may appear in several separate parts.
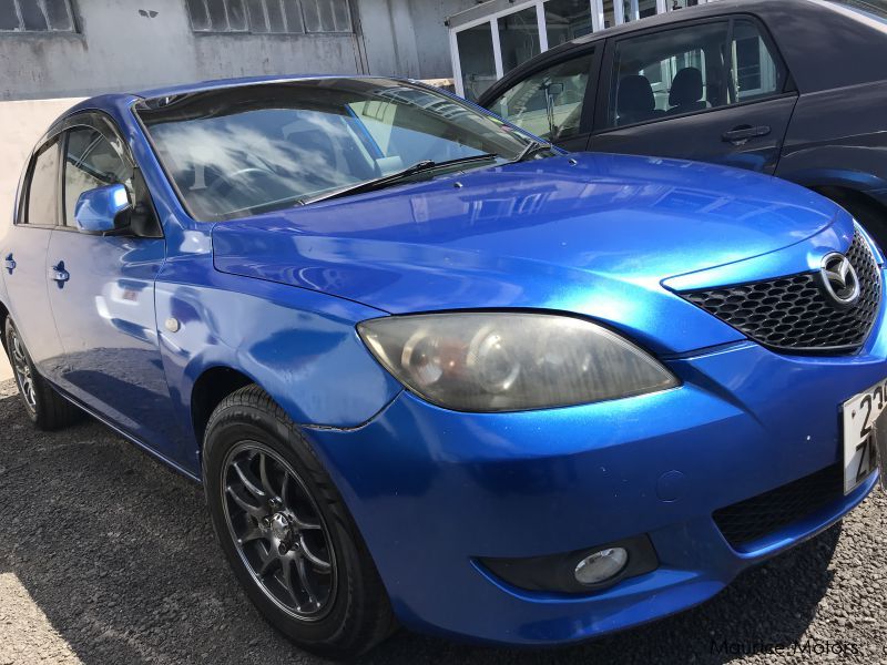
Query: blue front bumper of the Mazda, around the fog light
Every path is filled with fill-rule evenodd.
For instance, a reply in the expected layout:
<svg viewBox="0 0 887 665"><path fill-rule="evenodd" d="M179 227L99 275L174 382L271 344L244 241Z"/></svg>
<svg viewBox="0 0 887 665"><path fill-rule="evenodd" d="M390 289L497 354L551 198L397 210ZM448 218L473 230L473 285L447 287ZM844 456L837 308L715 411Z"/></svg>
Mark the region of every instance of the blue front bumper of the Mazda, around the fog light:
<svg viewBox="0 0 887 665"><path fill-rule="evenodd" d="M884 315L881 314L881 317ZM712 513L840 463L839 406L887 376L875 325L852 357L752 342L672 359L680 388L521 413L457 413L402 392L355 430L308 430L402 623L553 644L697 604L743 569L820 532L847 497L732 548ZM522 591L481 557L541 556L648 534L653 572L588 595Z"/></svg>

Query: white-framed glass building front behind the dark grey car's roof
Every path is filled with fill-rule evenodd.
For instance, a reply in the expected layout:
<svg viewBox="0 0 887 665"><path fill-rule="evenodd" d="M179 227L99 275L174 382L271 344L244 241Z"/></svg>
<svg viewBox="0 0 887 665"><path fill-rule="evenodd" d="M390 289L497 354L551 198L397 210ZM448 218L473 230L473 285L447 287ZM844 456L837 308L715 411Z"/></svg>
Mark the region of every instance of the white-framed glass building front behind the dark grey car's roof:
<svg viewBox="0 0 887 665"><path fill-rule="evenodd" d="M518 64L558 44L708 0L489 0L447 20L456 91L476 100Z"/></svg>

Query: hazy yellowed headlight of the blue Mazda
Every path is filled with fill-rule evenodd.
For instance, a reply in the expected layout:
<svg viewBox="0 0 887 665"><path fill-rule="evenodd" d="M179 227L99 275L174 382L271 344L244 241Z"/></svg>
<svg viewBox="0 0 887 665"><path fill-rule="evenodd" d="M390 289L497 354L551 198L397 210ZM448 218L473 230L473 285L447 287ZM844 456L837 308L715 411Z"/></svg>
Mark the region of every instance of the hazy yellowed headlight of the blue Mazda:
<svg viewBox="0 0 887 665"><path fill-rule="evenodd" d="M357 326L412 392L458 411L582 405L679 385L644 350L568 316L457 313L391 316Z"/></svg>

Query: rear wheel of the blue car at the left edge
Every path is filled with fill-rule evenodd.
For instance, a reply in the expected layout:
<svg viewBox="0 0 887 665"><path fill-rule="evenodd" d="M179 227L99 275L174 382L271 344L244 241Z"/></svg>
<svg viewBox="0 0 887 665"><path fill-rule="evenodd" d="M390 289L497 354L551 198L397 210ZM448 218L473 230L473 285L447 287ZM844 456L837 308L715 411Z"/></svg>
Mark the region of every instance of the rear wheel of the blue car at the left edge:
<svg viewBox="0 0 887 665"><path fill-rule="evenodd" d="M38 374L11 317L7 317L3 335L12 375L19 387L19 396L31 422L38 429L45 431L62 429L77 422L83 416L83 411L59 395L50 382Z"/></svg>

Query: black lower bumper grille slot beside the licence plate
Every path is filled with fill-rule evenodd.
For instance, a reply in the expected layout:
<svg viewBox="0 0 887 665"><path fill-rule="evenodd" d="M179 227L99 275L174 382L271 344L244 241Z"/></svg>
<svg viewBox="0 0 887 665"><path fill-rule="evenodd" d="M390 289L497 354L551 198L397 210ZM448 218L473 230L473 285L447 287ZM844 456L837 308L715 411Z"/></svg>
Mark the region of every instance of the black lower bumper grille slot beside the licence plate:
<svg viewBox="0 0 887 665"><path fill-rule="evenodd" d="M843 495L844 469L840 464L833 464L769 492L718 509L712 516L726 541L738 550L813 514Z"/></svg>

